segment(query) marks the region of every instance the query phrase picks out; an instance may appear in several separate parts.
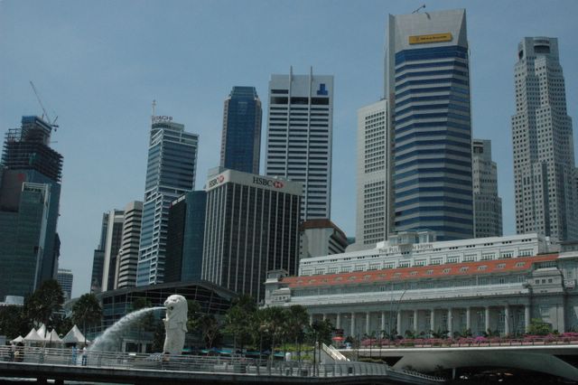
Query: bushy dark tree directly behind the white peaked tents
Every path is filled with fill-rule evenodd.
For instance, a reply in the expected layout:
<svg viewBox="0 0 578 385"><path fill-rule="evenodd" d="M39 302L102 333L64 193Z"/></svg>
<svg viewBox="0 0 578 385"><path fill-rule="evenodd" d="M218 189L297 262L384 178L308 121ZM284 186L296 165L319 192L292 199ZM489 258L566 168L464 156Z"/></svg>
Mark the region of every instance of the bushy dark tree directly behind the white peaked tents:
<svg viewBox="0 0 578 385"><path fill-rule="evenodd" d="M42 282L32 295L24 299L24 315L35 324L52 325L53 315L64 303L61 286L55 279Z"/></svg>

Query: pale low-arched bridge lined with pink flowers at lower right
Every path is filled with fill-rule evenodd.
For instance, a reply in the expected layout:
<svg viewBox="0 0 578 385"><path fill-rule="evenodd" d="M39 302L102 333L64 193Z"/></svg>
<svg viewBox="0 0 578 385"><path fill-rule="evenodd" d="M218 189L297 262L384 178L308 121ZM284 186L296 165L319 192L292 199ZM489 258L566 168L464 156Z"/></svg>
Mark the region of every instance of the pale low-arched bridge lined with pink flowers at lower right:
<svg viewBox="0 0 578 385"><path fill-rule="evenodd" d="M500 340L484 343L388 343L340 349L351 359L381 358L393 369L433 372L440 368L512 368L578 381L578 341Z"/></svg>

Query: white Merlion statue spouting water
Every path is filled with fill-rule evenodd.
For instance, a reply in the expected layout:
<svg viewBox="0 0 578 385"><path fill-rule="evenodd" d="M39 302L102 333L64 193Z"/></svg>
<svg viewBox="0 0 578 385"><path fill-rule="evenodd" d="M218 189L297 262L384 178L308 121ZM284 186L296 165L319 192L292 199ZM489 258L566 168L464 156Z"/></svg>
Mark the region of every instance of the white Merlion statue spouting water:
<svg viewBox="0 0 578 385"><path fill-rule="evenodd" d="M187 300L184 296L172 295L164 301L166 316L163 319L164 337L163 352L181 354L184 346L184 334L187 333Z"/></svg>

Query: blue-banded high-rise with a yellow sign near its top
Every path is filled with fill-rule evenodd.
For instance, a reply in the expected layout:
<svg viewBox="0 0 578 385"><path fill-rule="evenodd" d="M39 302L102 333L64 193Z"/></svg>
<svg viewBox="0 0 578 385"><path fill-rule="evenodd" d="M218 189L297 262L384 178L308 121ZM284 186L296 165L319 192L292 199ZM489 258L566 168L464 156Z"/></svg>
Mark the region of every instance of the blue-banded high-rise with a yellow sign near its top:
<svg viewBox="0 0 578 385"><path fill-rule="evenodd" d="M389 15L396 231L473 235L465 10Z"/></svg>

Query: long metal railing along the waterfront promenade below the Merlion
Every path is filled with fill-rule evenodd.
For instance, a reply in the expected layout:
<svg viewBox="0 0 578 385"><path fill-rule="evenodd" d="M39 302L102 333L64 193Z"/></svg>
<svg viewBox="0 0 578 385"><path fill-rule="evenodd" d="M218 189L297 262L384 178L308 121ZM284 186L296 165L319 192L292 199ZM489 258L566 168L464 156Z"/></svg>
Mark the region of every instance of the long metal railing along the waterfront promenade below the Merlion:
<svg viewBox="0 0 578 385"><path fill-rule="evenodd" d="M395 371L386 364L369 362L282 362L232 357L144 354L135 352L73 351L42 347L0 347L0 362L23 362L40 365L85 366L119 370L187 371L203 373L243 373L256 376L343 377L343 376L412 376L424 380L442 378L414 371Z"/></svg>

